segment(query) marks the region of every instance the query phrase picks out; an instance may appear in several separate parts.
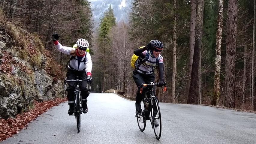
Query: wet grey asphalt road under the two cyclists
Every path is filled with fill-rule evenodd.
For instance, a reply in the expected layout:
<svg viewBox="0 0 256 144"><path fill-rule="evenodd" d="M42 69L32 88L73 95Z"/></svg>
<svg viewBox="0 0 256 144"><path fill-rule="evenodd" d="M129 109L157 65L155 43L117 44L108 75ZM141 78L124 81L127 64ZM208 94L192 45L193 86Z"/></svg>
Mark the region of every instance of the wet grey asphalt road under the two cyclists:
<svg viewBox="0 0 256 144"><path fill-rule="evenodd" d="M88 113L68 116L68 104L53 107L1 144L256 144L256 114L214 107L160 103L162 135L150 122L141 132L135 102L110 93L91 93Z"/></svg>

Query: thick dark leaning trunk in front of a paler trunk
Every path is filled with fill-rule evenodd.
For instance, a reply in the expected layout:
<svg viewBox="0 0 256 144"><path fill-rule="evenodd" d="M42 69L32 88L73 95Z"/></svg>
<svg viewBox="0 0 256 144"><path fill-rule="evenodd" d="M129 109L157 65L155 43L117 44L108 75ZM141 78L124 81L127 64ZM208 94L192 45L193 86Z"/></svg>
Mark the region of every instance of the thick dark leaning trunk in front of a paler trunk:
<svg viewBox="0 0 256 144"><path fill-rule="evenodd" d="M194 44L194 56L193 56L193 65L191 70L191 82L188 94L188 104L197 104L198 102L198 95L197 92L197 84L198 80L198 70L199 70L199 63L200 63L200 49L202 45L202 28L203 28L203 0L198 0L198 11L197 11L197 24L196 24L196 37L195 37L195 44Z"/></svg>

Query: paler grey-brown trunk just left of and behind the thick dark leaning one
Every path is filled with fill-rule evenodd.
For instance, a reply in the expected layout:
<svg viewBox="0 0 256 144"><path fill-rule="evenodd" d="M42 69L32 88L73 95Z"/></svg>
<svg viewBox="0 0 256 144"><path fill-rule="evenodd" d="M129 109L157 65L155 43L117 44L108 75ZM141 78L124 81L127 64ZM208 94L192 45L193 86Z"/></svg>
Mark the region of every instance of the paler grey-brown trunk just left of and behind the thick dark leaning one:
<svg viewBox="0 0 256 144"><path fill-rule="evenodd" d="M197 0L191 0L191 13L190 13L190 35L189 35L189 62L188 62L188 80L187 80L187 96L189 92L191 70L194 56L194 45L195 45L195 29L196 29L196 6Z"/></svg>

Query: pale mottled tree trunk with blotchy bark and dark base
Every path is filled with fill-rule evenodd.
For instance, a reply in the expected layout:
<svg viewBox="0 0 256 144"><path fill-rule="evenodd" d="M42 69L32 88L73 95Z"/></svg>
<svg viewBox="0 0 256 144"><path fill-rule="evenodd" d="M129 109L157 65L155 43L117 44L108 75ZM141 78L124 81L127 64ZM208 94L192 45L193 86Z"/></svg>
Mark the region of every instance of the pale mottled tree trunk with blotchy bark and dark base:
<svg viewBox="0 0 256 144"><path fill-rule="evenodd" d="M223 0L218 1L218 19L217 19L217 33L216 33L216 56L215 56L215 74L214 74L214 88L212 95L212 105L217 105L220 96L220 73L221 73L221 39L222 39L222 19L223 19Z"/></svg>

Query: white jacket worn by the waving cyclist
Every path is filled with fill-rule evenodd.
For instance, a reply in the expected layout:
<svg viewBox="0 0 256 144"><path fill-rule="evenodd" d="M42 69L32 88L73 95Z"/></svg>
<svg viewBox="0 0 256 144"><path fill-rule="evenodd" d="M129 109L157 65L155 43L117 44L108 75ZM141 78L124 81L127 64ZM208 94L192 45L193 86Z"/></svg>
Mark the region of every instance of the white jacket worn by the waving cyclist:
<svg viewBox="0 0 256 144"><path fill-rule="evenodd" d="M68 47L68 46L62 46L60 43L57 44L56 49L62 53L65 53L67 55L70 55L71 50L75 50L75 48ZM89 52L86 52L86 55L83 56L81 61L83 61L85 58L85 64L83 62L80 62L79 67L78 67L78 60L77 56L70 61L70 66L68 68L73 69L73 70L85 70L86 73L90 72L92 73L92 58Z"/></svg>

